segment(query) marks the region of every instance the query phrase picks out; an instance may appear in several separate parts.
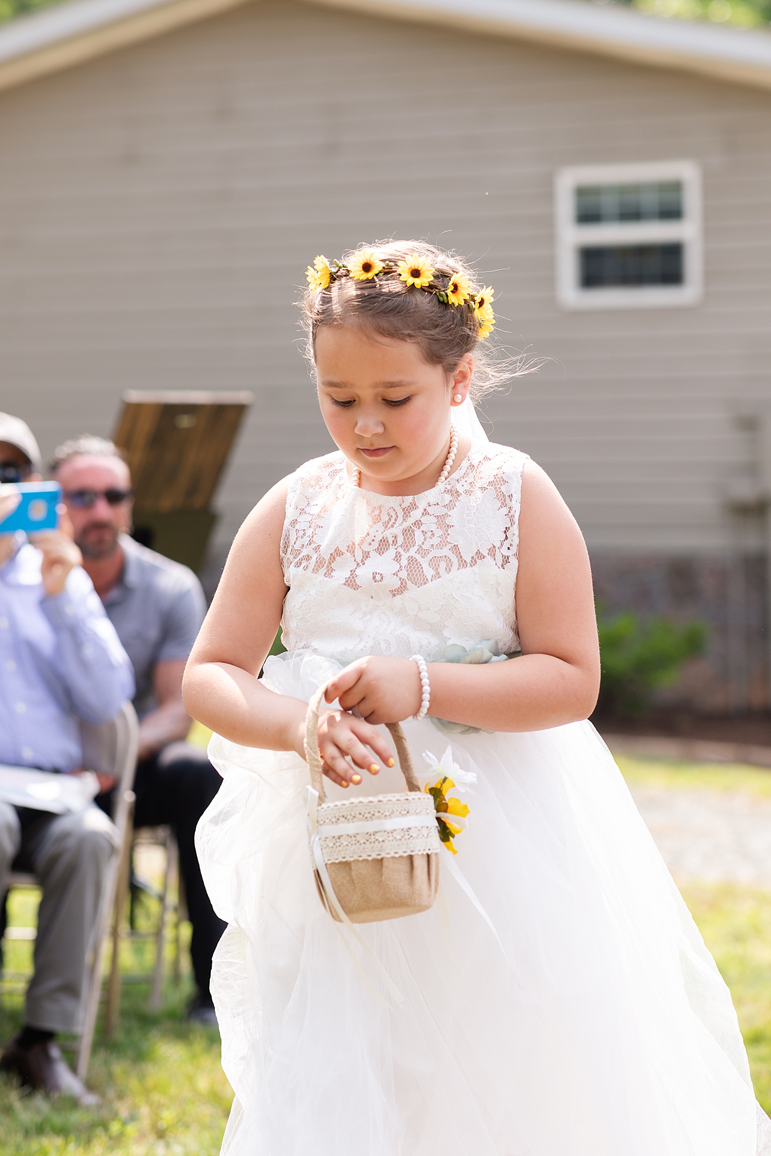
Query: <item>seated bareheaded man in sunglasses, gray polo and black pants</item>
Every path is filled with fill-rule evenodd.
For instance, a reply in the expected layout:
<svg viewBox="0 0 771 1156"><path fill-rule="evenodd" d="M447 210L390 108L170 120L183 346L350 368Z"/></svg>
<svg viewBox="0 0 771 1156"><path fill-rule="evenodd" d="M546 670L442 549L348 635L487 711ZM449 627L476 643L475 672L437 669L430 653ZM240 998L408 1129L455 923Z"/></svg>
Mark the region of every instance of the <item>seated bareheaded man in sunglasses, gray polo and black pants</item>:
<svg viewBox="0 0 771 1156"><path fill-rule="evenodd" d="M225 924L203 887L194 835L222 780L206 753L183 741L191 719L181 702L185 662L206 614L203 591L187 566L128 536L131 475L112 442L89 435L66 442L51 472L64 487L83 566L134 667L140 717L134 824L169 823L176 830L198 986L188 1017L215 1025L209 977Z"/></svg>

